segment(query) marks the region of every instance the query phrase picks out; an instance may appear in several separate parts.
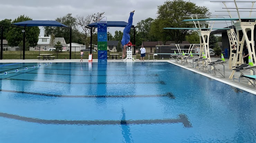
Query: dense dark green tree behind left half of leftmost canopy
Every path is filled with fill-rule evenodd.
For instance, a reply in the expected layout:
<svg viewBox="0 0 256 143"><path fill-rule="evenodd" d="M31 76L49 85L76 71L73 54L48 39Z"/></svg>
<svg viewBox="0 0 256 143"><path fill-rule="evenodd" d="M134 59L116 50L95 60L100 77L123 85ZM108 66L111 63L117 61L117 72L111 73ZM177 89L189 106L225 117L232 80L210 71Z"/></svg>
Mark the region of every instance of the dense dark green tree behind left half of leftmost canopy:
<svg viewBox="0 0 256 143"><path fill-rule="evenodd" d="M13 20L12 23L32 20L29 17L21 15L17 19ZM23 41L23 33L20 28L10 27L8 33L6 33L6 40L9 46L18 46ZM37 26L26 27L26 43L30 46L36 46L38 42L38 36L40 29Z"/></svg>

